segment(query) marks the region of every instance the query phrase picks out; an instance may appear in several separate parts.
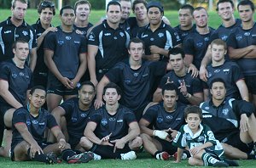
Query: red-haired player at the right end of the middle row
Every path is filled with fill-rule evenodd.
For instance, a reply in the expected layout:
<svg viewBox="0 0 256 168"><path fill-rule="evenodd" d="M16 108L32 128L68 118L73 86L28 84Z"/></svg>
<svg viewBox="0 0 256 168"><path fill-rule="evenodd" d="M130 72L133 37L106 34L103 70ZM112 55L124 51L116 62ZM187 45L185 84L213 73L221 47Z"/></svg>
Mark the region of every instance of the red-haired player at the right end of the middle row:
<svg viewBox="0 0 256 168"><path fill-rule="evenodd" d="M226 97L249 101L247 85L244 76L235 62L226 61L227 45L221 39L215 39L211 43L212 64L207 65L207 86L204 88L205 100L209 97L208 87L215 78L222 78L226 83Z"/></svg>

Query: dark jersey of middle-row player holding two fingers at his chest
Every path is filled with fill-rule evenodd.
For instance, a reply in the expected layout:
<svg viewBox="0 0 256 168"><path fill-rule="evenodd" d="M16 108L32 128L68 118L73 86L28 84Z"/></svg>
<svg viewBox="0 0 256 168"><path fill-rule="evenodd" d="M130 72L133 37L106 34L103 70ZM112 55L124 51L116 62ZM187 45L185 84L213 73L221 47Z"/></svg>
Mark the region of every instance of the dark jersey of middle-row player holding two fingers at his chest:
<svg viewBox="0 0 256 168"><path fill-rule="evenodd" d="M177 87L180 87L181 83L184 80L187 91L192 95L197 92L203 92L202 83L199 78L192 77L191 72L187 72L185 76L177 76L174 70L168 72L166 76L162 77L159 88L163 88L166 85L168 77L170 77L170 81L172 81ZM190 104L189 100L187 100L187 98L185 98L181 92L178 92L177 101L183 104Z"/></svg>

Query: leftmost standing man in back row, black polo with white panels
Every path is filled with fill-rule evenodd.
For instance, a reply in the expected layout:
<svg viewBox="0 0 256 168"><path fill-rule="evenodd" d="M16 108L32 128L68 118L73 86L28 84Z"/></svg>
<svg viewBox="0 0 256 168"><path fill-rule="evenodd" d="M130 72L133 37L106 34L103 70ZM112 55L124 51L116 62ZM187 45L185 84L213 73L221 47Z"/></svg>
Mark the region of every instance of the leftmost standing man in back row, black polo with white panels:
<svg viewBox="0 0 256 168"><path fill-rule="evenodd" d="M27 25L27 0L12 0L12 16L0 23L0 62L14 58L13 44L22 38L29 44L29 67L35 69L37 63L37 36L32 26Z"/></svg>

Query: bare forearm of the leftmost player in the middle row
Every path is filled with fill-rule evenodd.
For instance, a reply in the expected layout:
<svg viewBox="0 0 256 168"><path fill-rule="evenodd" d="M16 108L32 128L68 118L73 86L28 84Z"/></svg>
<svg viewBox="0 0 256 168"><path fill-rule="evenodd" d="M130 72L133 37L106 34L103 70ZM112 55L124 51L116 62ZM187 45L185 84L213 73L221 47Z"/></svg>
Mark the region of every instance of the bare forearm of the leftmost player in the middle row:
<svg viewBox="0 0 256 168"><path fill-rule="evenodd" d="M19 109L23 105L16 100L16 98L9 92L9 82L0 79L0 96L12 107Z"/></svg>

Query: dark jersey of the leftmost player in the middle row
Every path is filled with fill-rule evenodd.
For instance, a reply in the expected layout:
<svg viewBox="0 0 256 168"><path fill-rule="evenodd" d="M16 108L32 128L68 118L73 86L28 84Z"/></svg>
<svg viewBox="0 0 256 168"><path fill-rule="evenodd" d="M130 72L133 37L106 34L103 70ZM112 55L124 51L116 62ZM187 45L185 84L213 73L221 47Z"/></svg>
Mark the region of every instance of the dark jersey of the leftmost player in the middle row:
<svg viewBox="0 0 256 168"><path fill-rule="evenodd" d="M0 79L8 81L9 92L20 104L25 105L26 91L32 87L32 70L26 64L20 69L9 59L0 64ZM8 104L2 97L0 103Z"/></svg>

